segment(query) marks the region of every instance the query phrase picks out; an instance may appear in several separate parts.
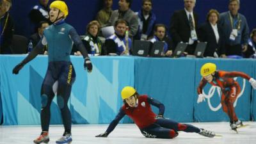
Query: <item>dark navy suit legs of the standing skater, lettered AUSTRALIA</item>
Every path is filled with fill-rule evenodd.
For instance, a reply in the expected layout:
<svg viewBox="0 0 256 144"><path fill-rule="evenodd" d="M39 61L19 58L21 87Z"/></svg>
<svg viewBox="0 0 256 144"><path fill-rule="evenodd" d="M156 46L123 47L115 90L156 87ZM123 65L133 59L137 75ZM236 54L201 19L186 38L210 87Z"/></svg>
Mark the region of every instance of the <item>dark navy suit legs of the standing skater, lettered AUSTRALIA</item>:
<svg viewBox="0 0 256 144"><path fill-rule="evenodd" d="M58 81L57 102L61 111L61 118L65 127L65 132L71 133L71 115L67 106L70 97L72 84L76 74L70 62L49 63L47 73L41 89L41 127L42 131L49 131L51 120L51 102L54 98L52 85Z"/></svg>

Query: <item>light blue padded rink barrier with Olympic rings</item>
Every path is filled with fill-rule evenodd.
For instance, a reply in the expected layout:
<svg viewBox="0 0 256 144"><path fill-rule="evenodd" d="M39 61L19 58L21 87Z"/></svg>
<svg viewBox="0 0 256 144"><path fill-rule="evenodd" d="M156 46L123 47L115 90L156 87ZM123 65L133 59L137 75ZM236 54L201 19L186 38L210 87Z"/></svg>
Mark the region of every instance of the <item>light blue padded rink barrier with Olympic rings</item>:
<svg viewBox="0 0 256 144"><path fill-rule="evenodd" d="M0 115L3 112L3 125L40 124L40 88L47 68L47 56L36 57L20 70L19 75L13 75L12 68L24 56L0 56ZM204 88L207 98L204 102L196 103L200 67L204 63L214 62L218 69L241 71L256 77L253 59L95 56L92 58L91 74L84 70L81 56L72 56L71 60L77 76L68 102L73 124L111 122L122 106L120 91L127 85L134 86L140 94L163 102L166 118L178 122L228 121L221 109L218 88L207 84ZM240 120L251 120L251 117L255 120L255 90L246 79L238 77L236 80L241 86L241 93L234 104L237 116ZM158 113L158 109L152 108ZM61 124L56 99L52 102L51 111L51 124ZM124 118L122 122L131 120Z"/></svg>

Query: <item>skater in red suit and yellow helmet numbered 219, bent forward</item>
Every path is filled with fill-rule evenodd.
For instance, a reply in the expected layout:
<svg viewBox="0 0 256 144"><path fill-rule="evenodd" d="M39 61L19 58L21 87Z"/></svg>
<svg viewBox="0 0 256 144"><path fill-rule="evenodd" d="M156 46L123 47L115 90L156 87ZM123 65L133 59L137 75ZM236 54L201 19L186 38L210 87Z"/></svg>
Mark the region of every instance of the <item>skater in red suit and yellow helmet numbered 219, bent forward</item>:
<svg viewBox="0 0 256 144"><path fill-rule="evenodd" d="M241 120L238 120L236 112L234 109L234 102L237 99L237 95L241 92L239 83L235 81L234 77L243 77L247 79L254 89L256 89L256 81L252 77L244 74L243 72L225 72L223 70L216 70L216 65L214 63L205 63L200 70L202 80L197 88L198 99L197 103L205 100L203 95L204 86L209 83L212 86L218 86L221 88L221 105L223 111L227 113L230 118L230 127L231 129L237 129L237 126L243 125Z"/></svg>

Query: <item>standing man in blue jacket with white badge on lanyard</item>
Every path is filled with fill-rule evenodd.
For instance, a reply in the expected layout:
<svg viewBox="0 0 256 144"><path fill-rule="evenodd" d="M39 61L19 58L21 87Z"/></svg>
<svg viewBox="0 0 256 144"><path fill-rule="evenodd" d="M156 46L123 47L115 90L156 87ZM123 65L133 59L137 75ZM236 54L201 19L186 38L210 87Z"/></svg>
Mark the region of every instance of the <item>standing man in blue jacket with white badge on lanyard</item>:
<svg viewBox="0 0 256 144"><path fill-rule="evenodd" d="M246 18L238 13L240 8L239 0L230 0L228 4L228 12L220 14L220 24L225 29L226 55L242 56L242 51L247 50L249 28Z"/></svg>

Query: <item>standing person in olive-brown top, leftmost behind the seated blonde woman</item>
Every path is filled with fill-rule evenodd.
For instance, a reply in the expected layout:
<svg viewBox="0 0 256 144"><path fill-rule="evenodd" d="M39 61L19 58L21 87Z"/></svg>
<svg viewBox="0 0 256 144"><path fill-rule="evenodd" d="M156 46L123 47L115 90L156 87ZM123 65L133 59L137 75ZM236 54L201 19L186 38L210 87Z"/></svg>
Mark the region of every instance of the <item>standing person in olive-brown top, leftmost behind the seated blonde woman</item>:
<svg viewBox="0 0 256 144"><path fill-rule="evenodd" d="M100 26L106 25L113 12L112 5L113 0L103 0L104 8L97 13L96 20L99 22Z"/></svg>

